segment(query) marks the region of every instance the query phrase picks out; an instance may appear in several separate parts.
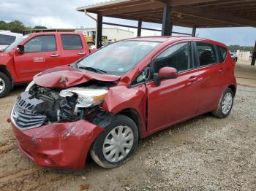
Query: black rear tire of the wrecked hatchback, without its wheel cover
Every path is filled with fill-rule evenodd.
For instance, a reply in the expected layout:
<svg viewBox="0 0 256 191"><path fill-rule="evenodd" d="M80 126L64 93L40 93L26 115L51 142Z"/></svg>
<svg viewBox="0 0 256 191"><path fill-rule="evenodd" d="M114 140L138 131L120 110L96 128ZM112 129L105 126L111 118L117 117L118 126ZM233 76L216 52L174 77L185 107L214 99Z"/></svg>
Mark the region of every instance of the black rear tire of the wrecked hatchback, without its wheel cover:
<svg viewBox="0 0 256 191"><path fill-rule="evenodd" d="M223 112L222 111L222 104L223 104L223 101L225 99L225 95L227 95L228 93L230 93L232 95L231 106L230 106L230 109L229 109L228 112ZM218 118L225 118L225 117L227 117L230 114L231 110L232 110L233 102L234 102L234 92L233 92L232 89L227 87L227 89L224 91L224 93L222 94L222 97L219 100L218 108L214 112L212 112L212 114L214 114L214 116L218 117Z"/></svg>

